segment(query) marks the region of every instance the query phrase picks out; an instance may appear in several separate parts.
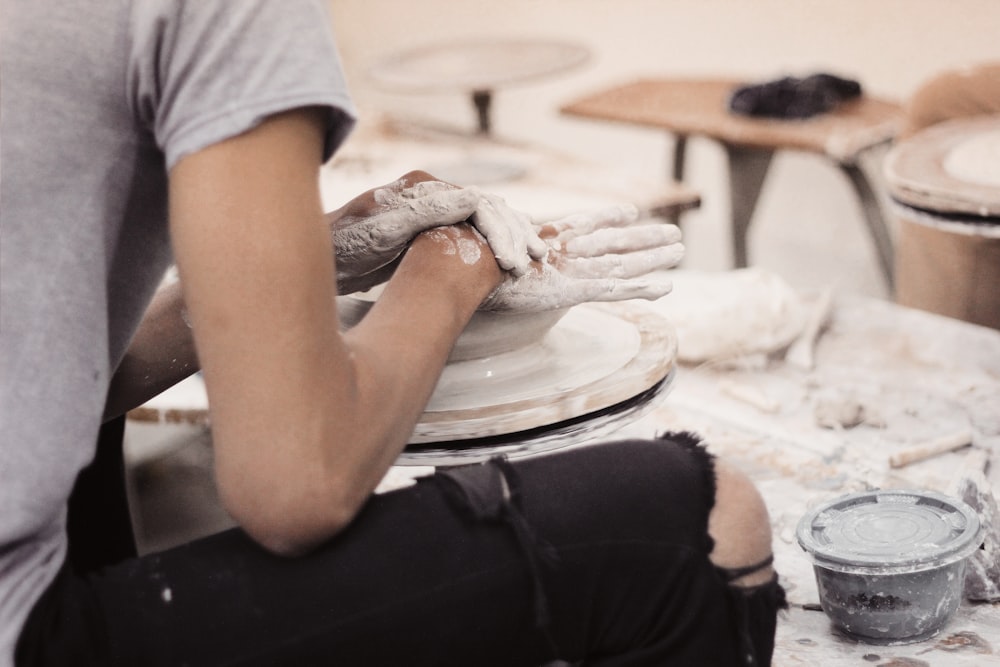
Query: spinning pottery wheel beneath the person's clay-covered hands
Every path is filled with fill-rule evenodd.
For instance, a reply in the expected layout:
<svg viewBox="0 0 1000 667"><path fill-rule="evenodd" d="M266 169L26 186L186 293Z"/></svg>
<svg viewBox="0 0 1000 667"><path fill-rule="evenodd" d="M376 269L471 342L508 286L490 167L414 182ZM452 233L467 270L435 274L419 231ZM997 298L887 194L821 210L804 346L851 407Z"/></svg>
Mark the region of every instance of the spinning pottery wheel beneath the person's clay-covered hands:
<svg viewBox="0 0 1000 667"><path fill-rule="evenodd" d="M449 364L400 463L537 453L617 430L665 394L673 327L645 304L585 304L531 346Z"/></svg>

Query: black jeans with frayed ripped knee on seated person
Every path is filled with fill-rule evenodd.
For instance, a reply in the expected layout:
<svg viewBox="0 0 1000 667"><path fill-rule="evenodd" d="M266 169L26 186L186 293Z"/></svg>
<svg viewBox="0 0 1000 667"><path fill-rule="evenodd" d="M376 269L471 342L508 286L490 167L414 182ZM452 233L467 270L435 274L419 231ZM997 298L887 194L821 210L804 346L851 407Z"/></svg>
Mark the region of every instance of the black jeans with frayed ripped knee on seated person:
<svg viewBox="0 0 1000 667"><path fill-rule="evenodd" d="M768 665L783 591L712 565L713 500L685 435L439 471L303 558L230 530L67 568L18 664Z"/></svg>

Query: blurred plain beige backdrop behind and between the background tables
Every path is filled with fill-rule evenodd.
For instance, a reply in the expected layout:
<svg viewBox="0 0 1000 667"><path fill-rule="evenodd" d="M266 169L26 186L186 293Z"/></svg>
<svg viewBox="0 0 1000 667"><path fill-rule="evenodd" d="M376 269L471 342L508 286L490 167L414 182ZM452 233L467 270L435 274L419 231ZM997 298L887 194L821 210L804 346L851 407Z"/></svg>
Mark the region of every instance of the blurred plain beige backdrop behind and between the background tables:
<svg viewBox="0 0 1000 667"><path fill-rule="evenodd" d="M371 86L367 67L398 49L482 35L587 44L594 54L587 66L501 91L495 102L497 132L658 177L670 145L663 133L560 117L559 105L643 74L762 80L818 70L859 79L871 94L905 99L941 69L1000 59L998 0L331 0L331 7L363 108L467 127L474 116L464 96L387 94ZM724 163L717 148L698 142L690 157L689 180L704 204L688 216L688 263L724 267L728 249L717 240L726 234ZM846 280L851 288L852 276L860 272L862 283L877 285L859 210L839 174L816 162L792 155L774 163L751 252L758 262L796 276L797 283L808 284L816 274L817 285ZM808 234L796 238L798 229ZM856 252L830 257L829 249L838 244ZM796 257L802 266L789 265Z"/></svg>

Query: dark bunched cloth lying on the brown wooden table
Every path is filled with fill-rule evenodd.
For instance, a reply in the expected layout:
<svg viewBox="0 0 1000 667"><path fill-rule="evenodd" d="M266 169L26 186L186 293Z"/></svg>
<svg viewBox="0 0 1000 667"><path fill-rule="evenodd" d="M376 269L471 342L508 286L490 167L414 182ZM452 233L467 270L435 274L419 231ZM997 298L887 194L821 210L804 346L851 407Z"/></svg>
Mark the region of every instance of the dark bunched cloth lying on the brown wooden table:
<svg viewBox="0 0 1000 667"><path fill-rule="evenodd" d="M860 83L833 74L786 76L736 88L729 97L729 110L764 118L810 118L860 96Z"/></svg>

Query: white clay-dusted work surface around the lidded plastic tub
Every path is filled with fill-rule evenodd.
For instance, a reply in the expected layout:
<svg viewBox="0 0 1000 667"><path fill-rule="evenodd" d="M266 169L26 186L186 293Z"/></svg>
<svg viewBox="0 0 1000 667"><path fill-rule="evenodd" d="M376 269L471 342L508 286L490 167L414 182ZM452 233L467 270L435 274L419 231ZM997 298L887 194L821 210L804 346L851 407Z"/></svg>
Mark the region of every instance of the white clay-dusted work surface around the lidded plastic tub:
<svg viewBox="0 0 1000 667"><path fill-rule="evenodd" d="M819 296L803 295L803 308ZM963 471L990 458L996 494L1000 332L835 295L812 368L780 349L684 364L666 401L623 434L666 430L700 434L765 496L791 603L775 665L1000 665L1000 603L965 601L937 636L916 644L874 646L840 634L818 610L812 566L795 537L801 516L821 502L873 488L953 493ZM894 454L962 433L973 446L890 465Z"/></svg>

